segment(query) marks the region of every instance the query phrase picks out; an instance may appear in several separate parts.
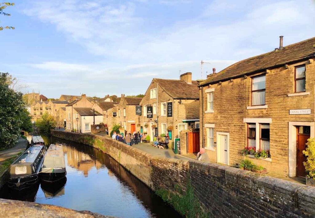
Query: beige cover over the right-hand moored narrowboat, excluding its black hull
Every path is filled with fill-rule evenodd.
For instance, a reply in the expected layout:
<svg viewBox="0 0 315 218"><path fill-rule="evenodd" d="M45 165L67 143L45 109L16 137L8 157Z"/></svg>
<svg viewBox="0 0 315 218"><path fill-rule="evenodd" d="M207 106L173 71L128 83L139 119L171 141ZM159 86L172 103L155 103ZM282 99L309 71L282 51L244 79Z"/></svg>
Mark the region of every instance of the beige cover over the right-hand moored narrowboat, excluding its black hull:
<svg viewBox="0 0 315 218"><path fill-rule="evenodd" d="M66 168L62 145L51 144L44 158L43 168Z"/></svg>

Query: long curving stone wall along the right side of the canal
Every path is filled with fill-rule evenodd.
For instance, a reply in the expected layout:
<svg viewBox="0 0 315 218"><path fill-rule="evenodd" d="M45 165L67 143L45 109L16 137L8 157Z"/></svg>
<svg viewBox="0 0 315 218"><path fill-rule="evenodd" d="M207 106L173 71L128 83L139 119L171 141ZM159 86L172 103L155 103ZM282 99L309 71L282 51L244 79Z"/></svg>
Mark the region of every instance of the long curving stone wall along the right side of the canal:
<svg viewBox="0 0 315 218"><path fill-rule="evenodd" d="M181 196L168 200L178 210L180 205L197 203L201 207L200 210L198 206L197 213L202 211L213 217L315 216L315 188L311 186L216 163L153 157L99 135L56 130L52 135L106 152L153 191L164 193L160 194L164 200ZM183 197L189 187L194 193L190 202ZM190 210L192 206L185 208Z"/></svg>

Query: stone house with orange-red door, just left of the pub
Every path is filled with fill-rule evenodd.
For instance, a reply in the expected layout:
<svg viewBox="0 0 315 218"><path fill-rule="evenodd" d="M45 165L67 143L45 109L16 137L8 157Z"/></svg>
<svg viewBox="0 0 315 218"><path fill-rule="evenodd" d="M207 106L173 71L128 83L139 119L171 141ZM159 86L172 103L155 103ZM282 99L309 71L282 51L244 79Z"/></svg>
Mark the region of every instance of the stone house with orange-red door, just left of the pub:
<svg viewBox="0 0 315 218"><path fill-rule="evenodd" d="M139 131L140 117L136 115L136 107L142 98L127 98L124 94L121 95L117 106L110 108L107 111L108 130L112 130L114 124L119 124L125 131Z"/></svg>

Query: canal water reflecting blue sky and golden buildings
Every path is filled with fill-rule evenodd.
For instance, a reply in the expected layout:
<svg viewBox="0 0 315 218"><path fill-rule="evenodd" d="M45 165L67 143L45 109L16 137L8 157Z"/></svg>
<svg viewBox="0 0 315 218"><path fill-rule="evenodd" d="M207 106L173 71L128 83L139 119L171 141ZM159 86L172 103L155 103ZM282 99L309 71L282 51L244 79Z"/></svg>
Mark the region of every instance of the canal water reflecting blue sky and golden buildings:
<svg viewBox="0 0 315 218"><path fill-rule="evenodd" d="M0 198L53 204L117 217L180 217L144 183L97 149L43 136L45 144L64 145L67 176L55 186L38 184L25 191L4 186Z"/></svg>

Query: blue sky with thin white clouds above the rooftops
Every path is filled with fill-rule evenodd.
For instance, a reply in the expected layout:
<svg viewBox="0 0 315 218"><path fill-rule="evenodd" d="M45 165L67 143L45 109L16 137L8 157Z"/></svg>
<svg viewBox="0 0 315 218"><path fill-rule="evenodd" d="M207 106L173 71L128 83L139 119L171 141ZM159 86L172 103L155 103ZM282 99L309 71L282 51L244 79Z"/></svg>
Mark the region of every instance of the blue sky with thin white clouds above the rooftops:
<svg viewBox="0 0 315 218"><path fill-rule="evenodd" d="M0 71L58 98L144 93L153 77L201 79L315 36L315 1L14 1L0 17Z"/></svg>

